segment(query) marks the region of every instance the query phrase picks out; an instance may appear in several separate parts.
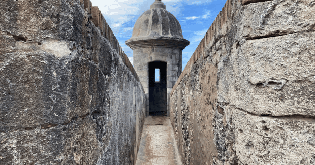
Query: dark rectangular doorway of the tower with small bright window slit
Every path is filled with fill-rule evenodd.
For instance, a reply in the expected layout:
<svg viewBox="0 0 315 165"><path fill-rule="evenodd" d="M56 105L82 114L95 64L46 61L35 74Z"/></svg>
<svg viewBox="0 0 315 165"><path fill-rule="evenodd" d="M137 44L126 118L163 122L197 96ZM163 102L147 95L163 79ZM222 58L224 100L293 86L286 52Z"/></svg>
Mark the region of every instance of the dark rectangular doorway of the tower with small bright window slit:
<svg viewBox="0 0 315 165"><path fill-rule="evenodd" d="M166 115L166 62L149 63L149 115Z"/></svg>

